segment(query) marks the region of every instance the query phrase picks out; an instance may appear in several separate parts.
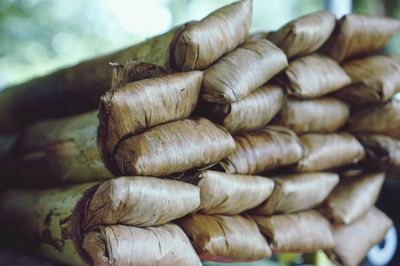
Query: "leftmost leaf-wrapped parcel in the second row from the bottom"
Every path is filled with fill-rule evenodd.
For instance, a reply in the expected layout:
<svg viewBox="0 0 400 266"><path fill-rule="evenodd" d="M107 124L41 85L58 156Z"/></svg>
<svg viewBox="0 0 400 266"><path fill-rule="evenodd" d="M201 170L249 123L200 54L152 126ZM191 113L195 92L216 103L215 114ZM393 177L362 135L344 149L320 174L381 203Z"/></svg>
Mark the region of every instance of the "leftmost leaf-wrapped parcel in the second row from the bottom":
<svg viewBox="0 0 400 266"><path fill-rule="evenodd" d="M154 177L120 177L100 185L87 204L83 227L125 224L156 226L193 212L199 188Z"/></svg>

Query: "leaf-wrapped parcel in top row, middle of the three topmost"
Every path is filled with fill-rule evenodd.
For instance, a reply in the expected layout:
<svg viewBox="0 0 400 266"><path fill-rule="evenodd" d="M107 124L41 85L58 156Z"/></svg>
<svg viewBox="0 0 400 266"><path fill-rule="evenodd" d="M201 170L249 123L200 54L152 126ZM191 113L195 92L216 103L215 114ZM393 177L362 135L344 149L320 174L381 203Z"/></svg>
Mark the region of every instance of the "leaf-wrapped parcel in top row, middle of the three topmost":
<svg viewBox="0 0 400 266"><path fill-rule="evenodd" d="M288 58L292 58L318 50L328 40L335 25L336 18L332 13L315 12L269 33L268 39L281 48Z"/></svg>

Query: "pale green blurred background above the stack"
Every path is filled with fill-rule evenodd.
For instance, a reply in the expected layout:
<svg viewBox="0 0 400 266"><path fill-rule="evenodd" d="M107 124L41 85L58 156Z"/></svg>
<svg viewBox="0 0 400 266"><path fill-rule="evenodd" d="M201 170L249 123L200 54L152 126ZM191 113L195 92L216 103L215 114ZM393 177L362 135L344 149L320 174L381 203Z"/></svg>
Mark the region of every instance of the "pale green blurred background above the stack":
<svg viewBox="0 0 400 266"><path fill-rule="evenodd" d="M0 90L109 53L234 0L0 0ZM400 18L396 0L355 0L355 12ZM252 31L324 9L324 0L254 0ZM400 35L387 50L400 53Z"/></svg>

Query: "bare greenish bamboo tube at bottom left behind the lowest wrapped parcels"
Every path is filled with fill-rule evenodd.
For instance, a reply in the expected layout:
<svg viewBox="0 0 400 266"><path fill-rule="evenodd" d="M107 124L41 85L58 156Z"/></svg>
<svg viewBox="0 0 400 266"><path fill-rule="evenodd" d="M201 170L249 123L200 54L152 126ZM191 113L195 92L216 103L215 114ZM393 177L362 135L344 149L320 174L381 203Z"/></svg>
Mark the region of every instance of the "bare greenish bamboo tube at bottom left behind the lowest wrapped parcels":
<svg viewBox="0 0 400 266"><path fill-rule="evenodd" d="M2 231L41 255L68 265L87 265L81 249L80 213L96 187L88 183L51 190L10 190L0 196Z"/></svg>

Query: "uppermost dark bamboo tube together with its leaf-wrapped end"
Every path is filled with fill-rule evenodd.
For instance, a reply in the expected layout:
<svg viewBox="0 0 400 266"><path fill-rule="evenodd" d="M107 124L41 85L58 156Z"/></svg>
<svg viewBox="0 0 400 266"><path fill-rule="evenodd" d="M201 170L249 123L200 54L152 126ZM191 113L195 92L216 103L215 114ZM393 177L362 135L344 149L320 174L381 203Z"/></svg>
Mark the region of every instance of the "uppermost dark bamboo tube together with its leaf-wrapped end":
<svg viewBox="0 0 400 266"><path fill-rule="evenodd" d="M199 22L189 22L113 54L9 87L0 92L0 133L15 132L40 119L95 109L100 95L110 88L109 62L142 62L133 80L160 71L204 69L244 42L251 14L252 0L240 0Z"/></svg>

